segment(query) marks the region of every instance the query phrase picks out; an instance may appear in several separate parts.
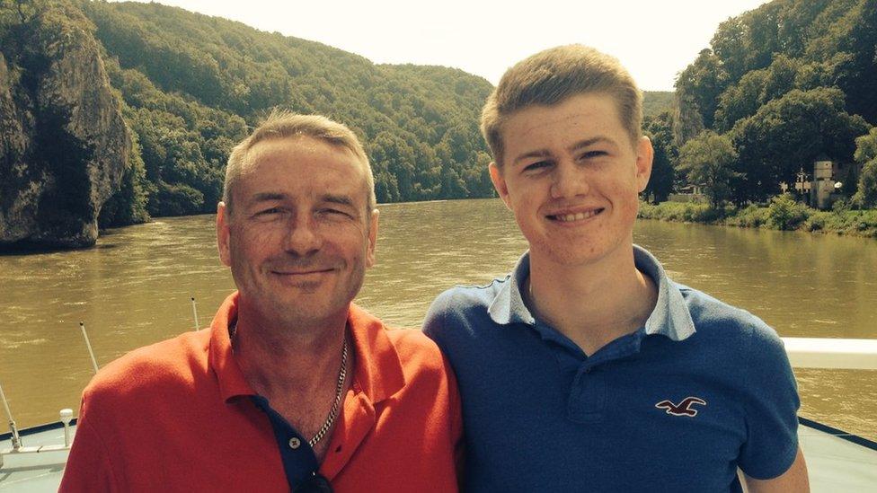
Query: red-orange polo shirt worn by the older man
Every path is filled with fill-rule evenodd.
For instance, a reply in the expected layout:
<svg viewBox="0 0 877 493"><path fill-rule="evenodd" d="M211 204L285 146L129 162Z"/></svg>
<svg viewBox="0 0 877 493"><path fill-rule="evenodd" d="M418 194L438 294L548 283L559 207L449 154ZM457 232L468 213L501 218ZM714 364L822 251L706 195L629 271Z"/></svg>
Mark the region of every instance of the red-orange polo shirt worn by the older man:
<svg viewBox="0 0 877 493"><path fill-rule="evenodd" d="M288 491L268 416L235 361L228 322L140 348L85 388L60 491ZM343 491L456 491L456 381L420 330L350 306L356 366L320 472Z"/></svg>

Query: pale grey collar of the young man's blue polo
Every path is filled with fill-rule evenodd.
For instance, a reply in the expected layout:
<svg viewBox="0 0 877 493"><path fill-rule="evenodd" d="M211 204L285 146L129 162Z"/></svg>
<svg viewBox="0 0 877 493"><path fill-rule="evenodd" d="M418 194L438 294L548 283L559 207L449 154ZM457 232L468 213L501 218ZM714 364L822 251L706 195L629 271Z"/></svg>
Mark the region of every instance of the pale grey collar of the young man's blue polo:
<svg viewBox="0 0 877 493"><path fill-rule="evenodd" d="M660 334L672 340L684 340L695 333L695 323L688 313L687 304L676 283L671 281L660 262L640 246L633 245L633 262L636 269L651 277L658 286L658 302L645 322L647 335ZM536 325L536 319L524 304L521 287L530 274L529 251L521 256L507 282L502 283L487 309L492 321L500 325L524 323Z"/></svg>

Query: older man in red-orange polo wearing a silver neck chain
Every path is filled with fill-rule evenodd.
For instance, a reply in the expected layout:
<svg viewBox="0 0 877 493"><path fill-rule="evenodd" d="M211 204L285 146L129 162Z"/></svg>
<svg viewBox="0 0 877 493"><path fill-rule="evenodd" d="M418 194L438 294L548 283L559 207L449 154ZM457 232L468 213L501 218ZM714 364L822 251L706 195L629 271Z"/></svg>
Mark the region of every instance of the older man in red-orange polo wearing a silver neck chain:
<svg viewBox="0 0 877 493"><path fill-rule="evenodd" d="M217 242L238 291L209 330L93 379L61 490L456 490L459 404L438 348L351 304L375 206L341 124L275 114L237 145Z"/></svg>

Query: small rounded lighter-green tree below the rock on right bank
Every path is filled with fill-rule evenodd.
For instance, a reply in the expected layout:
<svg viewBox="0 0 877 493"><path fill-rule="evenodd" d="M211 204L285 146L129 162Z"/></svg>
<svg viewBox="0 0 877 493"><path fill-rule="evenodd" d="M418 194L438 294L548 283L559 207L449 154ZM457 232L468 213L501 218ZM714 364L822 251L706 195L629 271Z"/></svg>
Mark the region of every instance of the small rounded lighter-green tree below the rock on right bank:
<svg viewBox="0 0 877 493"><path fill-rule="evenodd" d="M710 205L717 209L732 197L737 152L728 136L705 130L679 150L679 167L687 173L688 182L704 188Z"/></svg>

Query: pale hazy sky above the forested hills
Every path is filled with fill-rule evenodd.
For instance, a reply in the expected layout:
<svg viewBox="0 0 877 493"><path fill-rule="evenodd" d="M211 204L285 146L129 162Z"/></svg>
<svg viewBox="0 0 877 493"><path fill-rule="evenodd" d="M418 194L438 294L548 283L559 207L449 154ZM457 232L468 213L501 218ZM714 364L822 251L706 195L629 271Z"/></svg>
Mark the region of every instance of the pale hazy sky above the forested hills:
<svg viewBox="0 0 877 493"><path fill-rule="evenodd" d="M763 0L162 0L376 63L462 68L496 84L543 48L584 43L621 59L642 89L672 91L720 22Z"/></svg>

